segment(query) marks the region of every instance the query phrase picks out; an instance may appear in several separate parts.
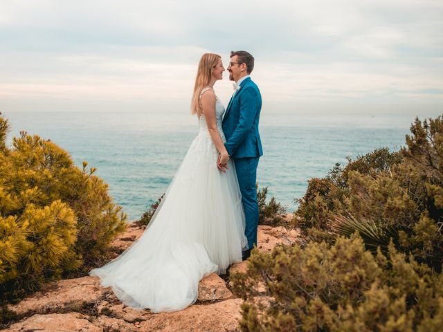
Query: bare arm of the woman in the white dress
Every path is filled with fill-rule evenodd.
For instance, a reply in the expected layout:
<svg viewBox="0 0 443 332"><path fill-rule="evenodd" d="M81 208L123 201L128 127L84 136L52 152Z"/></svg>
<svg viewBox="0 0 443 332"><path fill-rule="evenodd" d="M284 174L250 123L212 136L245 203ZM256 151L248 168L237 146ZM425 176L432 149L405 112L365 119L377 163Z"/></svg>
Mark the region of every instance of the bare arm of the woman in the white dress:
<svg viewBox="0 0 443 332"><path fill-rule="evenodd" d="M213 140L215 147L220 153L220 163L224 165L229 160L228 151L221 140L219 129L217 129L217 118L215 115L215 94L213 91L205 91L201 95L201 107L206 119L206 124L208 125L208 131L210 138Z"/></svg>

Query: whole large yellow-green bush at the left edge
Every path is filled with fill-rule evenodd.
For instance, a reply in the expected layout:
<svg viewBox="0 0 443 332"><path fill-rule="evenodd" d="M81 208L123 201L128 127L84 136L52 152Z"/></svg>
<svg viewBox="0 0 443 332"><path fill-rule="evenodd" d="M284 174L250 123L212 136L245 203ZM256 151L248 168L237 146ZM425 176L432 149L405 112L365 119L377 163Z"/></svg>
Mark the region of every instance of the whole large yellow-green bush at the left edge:
<svg viewBox="0 0 443 332"><path fill-rule="evenodd" d="M2 293L93 264L126 219L86 162L79 169L64 149L26 132L8 148L7 131L0 116Z"/></svg>

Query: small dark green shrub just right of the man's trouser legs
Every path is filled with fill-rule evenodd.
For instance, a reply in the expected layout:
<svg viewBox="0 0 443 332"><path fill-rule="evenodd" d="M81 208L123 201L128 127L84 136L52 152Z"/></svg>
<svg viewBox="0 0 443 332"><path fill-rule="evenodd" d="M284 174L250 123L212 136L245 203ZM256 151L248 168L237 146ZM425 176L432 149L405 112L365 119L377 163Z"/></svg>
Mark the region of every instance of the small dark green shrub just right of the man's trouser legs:
<svg viewBox="0 0 443 332"><path fill-rule="evenodd" d="M284 224L284 218L282 215L286 214L287 208L278 203L275 200L275 197L271 197L269 202L266 203L268 187L258 190L258 185L255 184L255 190L257 190L257 203L259 210L258 224L271 226Z"/></svg>

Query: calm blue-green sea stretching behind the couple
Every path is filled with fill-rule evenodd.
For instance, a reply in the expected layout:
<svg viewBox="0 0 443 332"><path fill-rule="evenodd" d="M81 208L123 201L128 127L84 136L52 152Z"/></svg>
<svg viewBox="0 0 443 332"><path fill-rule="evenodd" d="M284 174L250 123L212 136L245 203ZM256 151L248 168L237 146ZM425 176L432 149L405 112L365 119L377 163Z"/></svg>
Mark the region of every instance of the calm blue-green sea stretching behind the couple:
<svg viewBox="0 0 443 332"><path fill-rule="evenodd" d="M165 192L190 142L195 118L163 113L6 113L12 136L26 130L50 138L81 167L87 160L109 183L115 203L138 219ZM399 149L413 118L400 116L298 116L263 114L264 156L257 173L269 198L296 208L307 180L323 177L346 156L377 147Z"/></svg>

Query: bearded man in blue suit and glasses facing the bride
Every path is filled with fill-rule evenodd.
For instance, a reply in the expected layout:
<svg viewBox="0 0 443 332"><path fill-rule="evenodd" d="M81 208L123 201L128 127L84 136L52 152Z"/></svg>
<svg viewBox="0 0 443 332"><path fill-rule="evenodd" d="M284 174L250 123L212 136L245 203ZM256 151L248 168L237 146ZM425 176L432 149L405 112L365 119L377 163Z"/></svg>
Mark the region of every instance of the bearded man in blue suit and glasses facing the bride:
<svg viewBox="0 0 443 332"><path fill-rule="evenodd" d="M226 137L225 147L235 163L246 217L248 250L243 252L243 260L248 259L253 246L257 246L258 203L255 181L258 159L263 154L258 133L262 96L249 77L253 68L254 57L251 54L244 50L230 52L227 69L229 80L235 81L235 91L224 113L222 124ZM226 165L217 163L217 166L222 170Z"/></svg>

